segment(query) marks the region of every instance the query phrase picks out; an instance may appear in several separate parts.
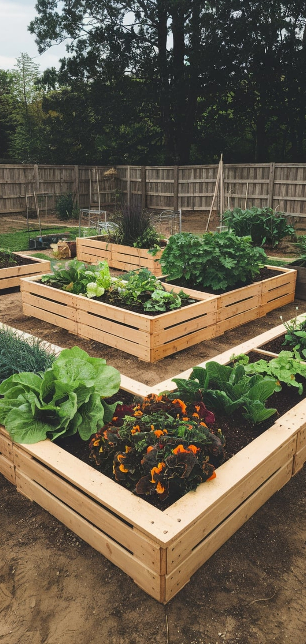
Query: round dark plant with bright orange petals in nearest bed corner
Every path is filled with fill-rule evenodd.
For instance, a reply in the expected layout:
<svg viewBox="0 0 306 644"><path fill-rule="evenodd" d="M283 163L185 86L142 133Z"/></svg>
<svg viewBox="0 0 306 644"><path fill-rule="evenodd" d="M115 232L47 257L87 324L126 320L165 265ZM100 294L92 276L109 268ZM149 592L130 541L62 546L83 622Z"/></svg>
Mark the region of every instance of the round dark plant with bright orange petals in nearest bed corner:
<svg viewBox="0 0 306 644"><path fill-rule="evenodd" d="M91 458L138 495L172 502L210 478L224 461L224 437L208 429L215 417L203 402L151 393L116 407L90 442Z"/></svg>

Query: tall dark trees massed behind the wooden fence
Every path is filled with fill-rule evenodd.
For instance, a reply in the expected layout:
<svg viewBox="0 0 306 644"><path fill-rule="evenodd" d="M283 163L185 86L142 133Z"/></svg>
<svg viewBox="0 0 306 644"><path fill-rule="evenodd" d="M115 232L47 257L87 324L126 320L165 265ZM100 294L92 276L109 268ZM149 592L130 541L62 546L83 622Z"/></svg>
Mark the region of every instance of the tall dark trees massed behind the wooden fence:
<svg viewBox="0 0 306 644"><path fill-rule="evenodd" d="M31 100L41 161L305 160L305 1L38 0L36 10L40 52L67 43Z"/></svg>

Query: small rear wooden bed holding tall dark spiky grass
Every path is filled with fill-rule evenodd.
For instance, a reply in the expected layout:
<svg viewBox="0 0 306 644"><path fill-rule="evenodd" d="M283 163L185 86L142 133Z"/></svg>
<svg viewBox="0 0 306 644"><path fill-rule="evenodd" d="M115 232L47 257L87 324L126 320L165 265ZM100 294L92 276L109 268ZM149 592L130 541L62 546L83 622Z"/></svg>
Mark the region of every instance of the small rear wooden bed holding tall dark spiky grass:
<svg viewBox="0 0 306 644"><path fill-rule="evenodd" d="M103 236L76 238L76 258L87 263L106 260L111 269L134 270L149 269L159 277L162 275L159 260L163 251L158 251L155 257L147 249L124 246L117 243L107 243Z"/></svg>

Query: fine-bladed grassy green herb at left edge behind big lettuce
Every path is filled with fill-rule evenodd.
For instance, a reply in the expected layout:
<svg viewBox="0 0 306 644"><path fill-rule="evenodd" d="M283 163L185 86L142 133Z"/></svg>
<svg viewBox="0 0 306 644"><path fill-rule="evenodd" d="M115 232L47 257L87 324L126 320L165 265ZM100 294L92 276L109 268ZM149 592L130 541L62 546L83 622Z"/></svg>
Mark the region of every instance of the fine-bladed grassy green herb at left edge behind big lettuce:
<svg viewBox="0 0 306 644"><path fill-rule="evenodd" d="M0 328L0 382L12 374L46 371L55 360L39 338L18 334L10 327Z"/></svg>

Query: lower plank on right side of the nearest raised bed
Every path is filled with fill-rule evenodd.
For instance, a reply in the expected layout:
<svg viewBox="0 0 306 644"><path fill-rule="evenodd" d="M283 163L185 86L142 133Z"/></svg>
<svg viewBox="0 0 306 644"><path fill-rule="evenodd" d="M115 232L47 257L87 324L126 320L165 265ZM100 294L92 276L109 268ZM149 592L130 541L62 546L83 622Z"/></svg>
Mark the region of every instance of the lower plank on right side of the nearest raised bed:
<svg viewBox="0 0 306 644"><path fill-rule="evenodd" d="M278 489L282 488L291 478L293 459L278 469L273 477L266 480L244 504L237 507L217 528L199 544L181 565L166 576L165 603L170 601L177 592L190 580L192 574L206 562L221 545L223 545L237 530L243 526Z"/></svg>

